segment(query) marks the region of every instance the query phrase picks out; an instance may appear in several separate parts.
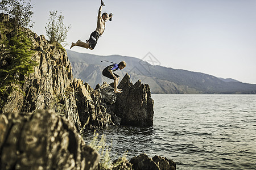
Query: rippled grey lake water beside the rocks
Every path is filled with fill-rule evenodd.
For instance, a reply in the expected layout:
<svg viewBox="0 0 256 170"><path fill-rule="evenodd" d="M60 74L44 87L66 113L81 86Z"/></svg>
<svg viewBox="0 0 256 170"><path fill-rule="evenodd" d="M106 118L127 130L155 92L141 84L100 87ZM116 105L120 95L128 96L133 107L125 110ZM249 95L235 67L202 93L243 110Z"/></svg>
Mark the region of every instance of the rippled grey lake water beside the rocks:
<svg viewBox="0 0 256 170"><path fill-rule="evenodd" d="M151 95L154 125L101 130L112 159L145 153L177 169L256 169L256 95ZM87 134L86 141L92 139Z"/></svg>

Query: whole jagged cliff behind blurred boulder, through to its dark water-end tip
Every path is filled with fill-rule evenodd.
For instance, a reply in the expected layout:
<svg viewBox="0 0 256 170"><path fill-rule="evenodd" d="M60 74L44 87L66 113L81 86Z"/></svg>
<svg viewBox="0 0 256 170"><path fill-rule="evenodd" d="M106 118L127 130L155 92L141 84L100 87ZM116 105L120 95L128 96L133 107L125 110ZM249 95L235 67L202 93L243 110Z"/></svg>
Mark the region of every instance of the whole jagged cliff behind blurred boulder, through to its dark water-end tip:
<svg viewBox="0 0 256 170"><path fill-rule="evenodd" d="M3 15L1 21L5 25L9 20ZM94 90L88 83L73 78L65 49L50 44L44 36L26 31L35 50L32 58L38 66L34 67L34 73L24 77L21 91L14 91L7 98L3 113L52 110L71 121L77 130L102 129L119 124L118 119L121 125L152 125L153 103L147 84L138 82L132 86L126 75L119 85L123 88L122 94L114 94L108 84ZM6 58L0 59L1 63L7 63ZM109 96L106 91L114 97L113 101L106 99Z"/></svg>

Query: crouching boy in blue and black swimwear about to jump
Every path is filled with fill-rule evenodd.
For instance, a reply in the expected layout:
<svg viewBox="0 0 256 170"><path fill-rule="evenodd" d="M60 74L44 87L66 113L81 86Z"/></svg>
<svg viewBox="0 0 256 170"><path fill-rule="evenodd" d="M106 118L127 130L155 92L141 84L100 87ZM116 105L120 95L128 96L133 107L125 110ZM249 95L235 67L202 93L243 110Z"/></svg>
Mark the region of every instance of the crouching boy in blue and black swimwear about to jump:
<svg viewBox="0 0 256 170"><path fill-rule="evenodd" d="M122 89L118 89L117 85L119 82L119 75L113 73L114 71L117 71L118 69L122 70L126 67L126 62L125 61L121 61L119 62L119 64L114 63L113 65L110 65L108 67L106 67L103 71L102 71L102 75L106 76L107 78L113 79L114 80L114 92L115 93L121 93Z"/></svg>

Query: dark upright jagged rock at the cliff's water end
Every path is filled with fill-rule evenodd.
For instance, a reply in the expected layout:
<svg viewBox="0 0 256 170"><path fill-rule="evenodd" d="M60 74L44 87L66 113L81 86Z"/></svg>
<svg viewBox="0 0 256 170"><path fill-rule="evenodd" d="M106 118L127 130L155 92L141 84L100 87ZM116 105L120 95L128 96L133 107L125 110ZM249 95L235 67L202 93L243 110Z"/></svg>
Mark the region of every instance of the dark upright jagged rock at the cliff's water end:
<svg viewBox="0 0 256 170"><path fill-rule="evenodd" d="M148 84L142 84L141 80L133 84L126 74L118 88L123 92L117 95L115 113L121 118L121 125L152 126L154 101Z"/></svg>

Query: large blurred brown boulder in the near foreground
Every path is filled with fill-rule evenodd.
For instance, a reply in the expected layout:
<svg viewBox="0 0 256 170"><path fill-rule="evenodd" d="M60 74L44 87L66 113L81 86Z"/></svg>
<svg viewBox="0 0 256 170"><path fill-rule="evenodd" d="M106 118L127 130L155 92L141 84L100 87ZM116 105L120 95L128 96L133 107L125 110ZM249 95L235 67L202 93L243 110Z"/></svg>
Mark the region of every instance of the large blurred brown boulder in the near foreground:
<svg viewBox="0 0 256 170"><path fill-rule="evenodd" d="M0 114L0 169L95 169L100 155L54 112Z"/></svg>

